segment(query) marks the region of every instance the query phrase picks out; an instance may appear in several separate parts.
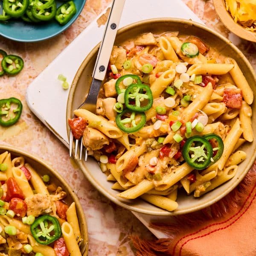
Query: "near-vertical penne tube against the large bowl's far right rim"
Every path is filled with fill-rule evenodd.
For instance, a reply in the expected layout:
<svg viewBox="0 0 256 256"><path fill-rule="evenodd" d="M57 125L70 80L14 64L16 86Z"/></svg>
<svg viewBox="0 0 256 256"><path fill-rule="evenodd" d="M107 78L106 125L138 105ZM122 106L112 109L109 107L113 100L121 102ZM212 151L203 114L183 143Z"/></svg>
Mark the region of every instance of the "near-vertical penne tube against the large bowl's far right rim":
<svg viewBox="0 0 256 256"><path fill-rule="evenodd" d="M245 102L242 102L242 107L239 111L239 118L241 120L241 128L243 129L244 139L252 142L253 141L253 128L252 128L252 109Z"/></svg>

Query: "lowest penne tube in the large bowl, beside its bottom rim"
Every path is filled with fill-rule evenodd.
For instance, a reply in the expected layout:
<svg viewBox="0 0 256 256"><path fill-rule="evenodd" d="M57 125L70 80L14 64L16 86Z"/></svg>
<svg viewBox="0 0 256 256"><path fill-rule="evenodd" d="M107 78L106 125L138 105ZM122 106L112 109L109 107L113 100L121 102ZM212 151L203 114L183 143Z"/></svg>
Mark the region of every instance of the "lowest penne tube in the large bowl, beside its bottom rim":
<svg viewBox="0 0 256 256"><path fill-rule="evenodd" d="M140 196L143 200L151 203L151 204L154 204L162 209L166 209L167 211L171 212L175 209L177 209L178 207L178 204L177 202L169 199L169 198L166 198L165 196L162 196L162 195L147 195L147 194L144 194L144 195L141 195Z"/></svg>

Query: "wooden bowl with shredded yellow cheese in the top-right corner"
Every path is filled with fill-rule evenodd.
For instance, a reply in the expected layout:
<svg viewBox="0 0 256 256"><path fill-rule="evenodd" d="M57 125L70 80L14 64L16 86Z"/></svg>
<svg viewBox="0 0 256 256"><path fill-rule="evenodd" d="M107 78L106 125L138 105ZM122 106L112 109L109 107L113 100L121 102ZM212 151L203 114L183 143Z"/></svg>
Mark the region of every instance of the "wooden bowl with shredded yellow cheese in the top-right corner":
<svg viewBox="0 0 256 256"><path fill-rule="evenodd" d="M224 25L245 40L256 42L256 2L252 0L213 0Z"/></svg>

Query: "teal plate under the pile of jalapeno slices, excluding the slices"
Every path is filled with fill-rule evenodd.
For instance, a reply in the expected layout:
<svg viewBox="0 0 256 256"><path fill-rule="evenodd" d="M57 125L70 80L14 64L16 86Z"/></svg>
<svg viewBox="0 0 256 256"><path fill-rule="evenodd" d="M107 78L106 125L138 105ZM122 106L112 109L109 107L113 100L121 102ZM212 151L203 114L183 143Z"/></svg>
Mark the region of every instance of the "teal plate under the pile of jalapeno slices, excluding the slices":
<svg viewBox="0 0 256 256"><path fill-rule="evenodd" d="M19 42L38 42L52 38L66 30L81 13L86 0L73 0L76 4L76 14L72 19L61 26L55 19L45 23L28 23L21 18L0 22L0 35ZM64 1L56 1L57 7ZM2 13L2 10L0 11Z"/></svg>

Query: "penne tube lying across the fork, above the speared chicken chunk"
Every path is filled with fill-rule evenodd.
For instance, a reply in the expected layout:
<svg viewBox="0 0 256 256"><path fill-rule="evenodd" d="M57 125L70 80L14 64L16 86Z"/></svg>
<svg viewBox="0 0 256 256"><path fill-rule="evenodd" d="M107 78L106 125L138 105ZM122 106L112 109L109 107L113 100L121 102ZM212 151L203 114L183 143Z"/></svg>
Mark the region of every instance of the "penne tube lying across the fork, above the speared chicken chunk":
<svg viewBox="0 0 256 256"><path fill-rule="evenodd" d="M76 116L81 116L89 125L93 125L93 128L96 128L112 139L120 138L123 136L122 131L119 130L119 128L117 128L115 125L105 121L104 119L86 109L76 109L74 110L74 114Z"/></svg>

